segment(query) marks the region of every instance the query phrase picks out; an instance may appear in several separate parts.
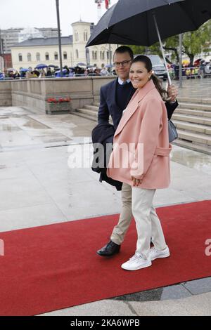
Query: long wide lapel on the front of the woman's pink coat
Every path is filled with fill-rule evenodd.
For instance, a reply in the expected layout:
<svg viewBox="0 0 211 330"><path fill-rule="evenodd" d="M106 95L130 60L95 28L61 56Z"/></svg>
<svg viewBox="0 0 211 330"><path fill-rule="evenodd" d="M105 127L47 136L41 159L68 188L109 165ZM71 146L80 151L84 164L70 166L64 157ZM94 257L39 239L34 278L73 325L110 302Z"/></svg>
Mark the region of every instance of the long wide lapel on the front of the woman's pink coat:
<svg viewBox="0 0 211 330"><path fill-rule="evenodd" d="M129 101L129 104L127 105L124 114L122 115L120 124L117 126L117 130L115 131L115 136L117 136L117 134L122 131L122 128L124 128L124 126L127 124L127 121L129 121L134 112L136 112L136 110L138 109L141 100L143 100L146 94L153 88L155 88L155 84L153 83L153 80L150 80L145 86L143 86L143 88L137 89L132 99Z"/></svg>

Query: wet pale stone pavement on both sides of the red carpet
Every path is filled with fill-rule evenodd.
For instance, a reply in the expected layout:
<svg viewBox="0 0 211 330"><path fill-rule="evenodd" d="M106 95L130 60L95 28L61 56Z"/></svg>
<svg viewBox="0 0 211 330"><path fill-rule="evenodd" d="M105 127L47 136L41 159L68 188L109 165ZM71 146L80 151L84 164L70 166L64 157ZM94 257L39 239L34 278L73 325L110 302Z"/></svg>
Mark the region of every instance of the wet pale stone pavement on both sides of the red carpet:
<svg viewBox="0 0 211 330"><path fill-rule="evenodd" d="M188 84L190 91L201 83ZM68 167L68 145L89 143L95 125L72 114L0 107L0 232L120 212L120 192L89 167ZM171 168L170 188L156 192L155 206L210 199L210 156L174 146ZM46 315L211 315L210 306L206 278Z"/></svg>

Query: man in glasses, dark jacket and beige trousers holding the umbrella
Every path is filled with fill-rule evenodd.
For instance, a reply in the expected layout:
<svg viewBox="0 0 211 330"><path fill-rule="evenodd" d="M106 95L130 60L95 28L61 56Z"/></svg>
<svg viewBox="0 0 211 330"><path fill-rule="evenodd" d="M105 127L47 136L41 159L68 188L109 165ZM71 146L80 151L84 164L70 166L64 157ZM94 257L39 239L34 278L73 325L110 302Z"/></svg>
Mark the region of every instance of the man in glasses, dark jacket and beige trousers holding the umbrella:
<svg viewBox="0 0 211 330"><path fill-rule="evenodd" d="M129 100L134 95L136 89L133 88L129 80L129 70L134 54L132 49L127 46L120 46L114 53L115 71L117 79L101 87L101 100L98 110L98 123L108 123L109 116L113 119L113 125L116 130L122 112L127 107ZM172 117L177 108L177 88L169 86L167 93L170 100L165 103L168 119ZM113 256L120 251L120 246L132 220L132 195L130 187L124 185L121 192L122 211L117 225L114 227L110 242L97 251L99 256Z"/></svg>

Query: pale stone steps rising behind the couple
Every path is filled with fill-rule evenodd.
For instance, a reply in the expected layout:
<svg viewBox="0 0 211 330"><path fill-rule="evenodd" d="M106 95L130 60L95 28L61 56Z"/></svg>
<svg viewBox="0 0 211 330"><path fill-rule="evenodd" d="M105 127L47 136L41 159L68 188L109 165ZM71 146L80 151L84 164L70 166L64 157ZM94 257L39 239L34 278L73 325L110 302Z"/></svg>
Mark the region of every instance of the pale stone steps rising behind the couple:
<svg viewBox="0 0 211 330"><path fill-rule="evenodd" d="M211 98L179 98L179 107L172 121L177 127L179 138L174 145L211 154ZM99 103L76 109L77 116L97 121ZM110 119L112 123L112 119Z"/></svg>

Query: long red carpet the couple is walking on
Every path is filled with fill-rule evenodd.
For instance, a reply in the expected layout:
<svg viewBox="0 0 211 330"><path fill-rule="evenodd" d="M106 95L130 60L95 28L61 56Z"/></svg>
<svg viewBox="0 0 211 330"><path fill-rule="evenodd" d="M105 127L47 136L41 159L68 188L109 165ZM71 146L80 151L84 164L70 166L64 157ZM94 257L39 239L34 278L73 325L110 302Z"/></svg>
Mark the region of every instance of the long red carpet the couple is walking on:
<svg viewBox="0 0 211 330"><path fill-rule="evenodd" d="M211 201L157 209L172 256L127 272L135 251L134 221L115 258L96 255L118 215L0 233L0 315L37 315L126 293L211 276Z"/></svg>

